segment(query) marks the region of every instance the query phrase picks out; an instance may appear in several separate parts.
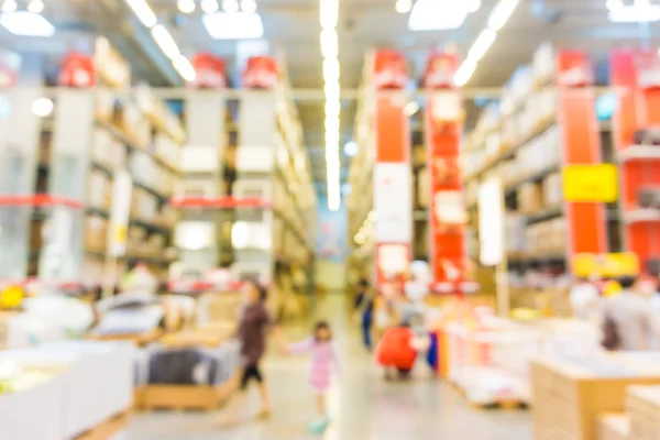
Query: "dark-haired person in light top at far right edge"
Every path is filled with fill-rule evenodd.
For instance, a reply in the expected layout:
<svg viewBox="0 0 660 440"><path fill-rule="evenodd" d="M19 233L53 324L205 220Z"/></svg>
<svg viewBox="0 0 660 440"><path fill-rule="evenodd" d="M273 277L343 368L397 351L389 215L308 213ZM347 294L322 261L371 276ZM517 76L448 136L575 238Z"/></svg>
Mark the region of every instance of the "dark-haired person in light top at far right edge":
<svg viewBox="0 0 660 440"><path fill-rule="evenodd" d="M603 307L603 345L608 350L649 350L653 337L648 298L639 292L638 279L620 278L622 293L607 298Z"/></svg>

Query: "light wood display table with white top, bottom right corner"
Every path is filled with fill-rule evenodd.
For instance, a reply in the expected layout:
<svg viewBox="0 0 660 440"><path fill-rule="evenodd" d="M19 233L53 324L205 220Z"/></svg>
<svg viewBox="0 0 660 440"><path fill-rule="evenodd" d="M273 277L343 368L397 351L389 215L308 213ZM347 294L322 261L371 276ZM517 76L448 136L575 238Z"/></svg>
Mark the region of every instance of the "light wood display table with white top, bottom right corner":
<svg viewBox="0 0 660 440"><path fill-rule="evenodd" d="M656 384L660 362L653 355L591 352L534 361L535 439L596 440L598 417L624 411L628 386Z"/></svg>

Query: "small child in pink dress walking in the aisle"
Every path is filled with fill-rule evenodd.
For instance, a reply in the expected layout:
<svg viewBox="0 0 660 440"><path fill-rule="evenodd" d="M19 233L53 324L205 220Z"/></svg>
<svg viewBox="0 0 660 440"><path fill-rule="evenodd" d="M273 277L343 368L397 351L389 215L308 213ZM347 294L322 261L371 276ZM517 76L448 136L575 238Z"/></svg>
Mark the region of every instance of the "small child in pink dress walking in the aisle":
<svg viewBox="0 0 660 440"><path fill-rule="evenodd" d="M289 354L311 353L309 384L317 392L319 420L309 425L312 432L322 432L330 424L326 411L326 393L330 387L332 370L340 373L339 359L332 346L332 331L326 321L317 322L314 337L288 346Z"/></svg>

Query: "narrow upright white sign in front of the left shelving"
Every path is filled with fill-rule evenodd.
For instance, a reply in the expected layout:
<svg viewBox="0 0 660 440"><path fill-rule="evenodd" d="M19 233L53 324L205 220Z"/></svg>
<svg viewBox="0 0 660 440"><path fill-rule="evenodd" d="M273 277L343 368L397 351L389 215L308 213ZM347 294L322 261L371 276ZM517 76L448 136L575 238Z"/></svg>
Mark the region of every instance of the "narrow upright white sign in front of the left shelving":
<svg viewBox="0 0 660 440"><path fill-rule="evenodd" d="M116 173L112 183L112 207L108 228L108 253L112 256L121 256L127 253L132 191L133 180L131 175L127 172Z"/></svg>

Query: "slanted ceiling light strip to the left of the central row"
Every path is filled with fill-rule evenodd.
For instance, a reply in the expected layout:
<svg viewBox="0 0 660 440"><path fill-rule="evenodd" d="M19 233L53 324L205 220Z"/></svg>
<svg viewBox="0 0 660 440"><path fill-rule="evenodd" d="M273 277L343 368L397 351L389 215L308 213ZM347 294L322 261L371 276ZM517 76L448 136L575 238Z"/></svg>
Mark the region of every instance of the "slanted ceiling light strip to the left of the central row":
<svg viewBox="0 0 660 440"><path fill-rule="evenodd" d="M165 28L165 25L158 23L158 19L154 13L153 9L145 0L125 0L127 4L138 20L151 30L152 37L156 42L156 45L163 52L163 54L169 58L174 69L184 78L186 81L191 81L197 76L195 68L186 58L182 55L182 51L176 44L176 41Z"/></svg>

